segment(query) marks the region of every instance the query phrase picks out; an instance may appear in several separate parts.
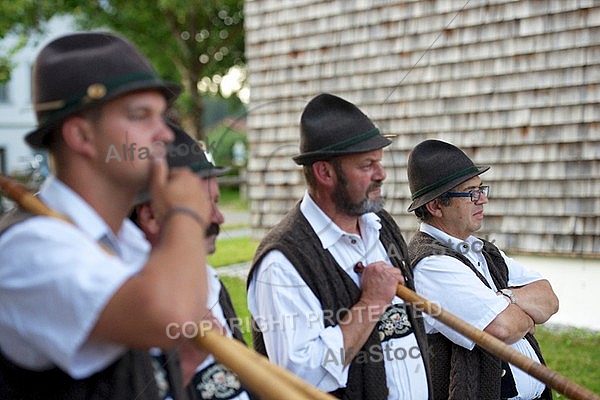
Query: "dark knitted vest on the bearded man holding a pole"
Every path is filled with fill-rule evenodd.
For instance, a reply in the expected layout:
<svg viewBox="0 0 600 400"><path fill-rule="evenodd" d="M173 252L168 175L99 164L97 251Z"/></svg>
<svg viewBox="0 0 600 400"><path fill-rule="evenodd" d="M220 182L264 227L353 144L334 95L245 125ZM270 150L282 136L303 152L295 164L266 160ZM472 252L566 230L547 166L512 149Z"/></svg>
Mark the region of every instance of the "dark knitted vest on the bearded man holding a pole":
<svg viewBox="0 0 600 400"><path fill-rule="evenodd" d="M381 218L382 223L380 240L388 250L392 264L402 270L406 279L406 286L413 288L412 272L408 267L406 242L393 218L387 212L382 211L377 215ZM281 251L290 260L304 282L321 302L323 309L332 310L333 315L338 318L336 321L325 318L326 327L336 325L343 318L344 314L338 313L339 310L348 310L358 301L360 289L337 264L331 253L323 251L318 236L300 212L299 203L261 242L248 275L248 283L250 283L262 258L269 251L275 249ZM426 354L427 338L420 313L408 305L406 311L421 354ZM256 324L252 325L254 348L267 356L262 333L257 329ZM347 386L333 392L334 396L340 399L352 400L387 399L388 389L383 358L373 360L372 357L368 357L369 351L377 348L381 349L381 342L377 329L374 329L350 364ZM427 357L423 357L423 362L429 382L429 360ZM431 393L430 383L428 389Z"/></svg>

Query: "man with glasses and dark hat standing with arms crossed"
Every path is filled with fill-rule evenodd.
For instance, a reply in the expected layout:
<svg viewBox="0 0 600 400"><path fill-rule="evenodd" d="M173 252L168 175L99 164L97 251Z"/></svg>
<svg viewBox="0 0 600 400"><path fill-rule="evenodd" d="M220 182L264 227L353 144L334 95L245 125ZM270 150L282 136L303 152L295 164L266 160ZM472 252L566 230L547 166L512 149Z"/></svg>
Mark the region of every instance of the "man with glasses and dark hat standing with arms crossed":
<svg viewBox="0 0 600 400"><path fill-rule="evenodd" d="M476 328L543 362L535 324L558 310L550 283L475 236L489 186L456 146L418 144L408 158L414 211L422 221L409 244L415 287ZM551 399L550 389L491 356L446 325L425 316L436 399Z"/></svg>

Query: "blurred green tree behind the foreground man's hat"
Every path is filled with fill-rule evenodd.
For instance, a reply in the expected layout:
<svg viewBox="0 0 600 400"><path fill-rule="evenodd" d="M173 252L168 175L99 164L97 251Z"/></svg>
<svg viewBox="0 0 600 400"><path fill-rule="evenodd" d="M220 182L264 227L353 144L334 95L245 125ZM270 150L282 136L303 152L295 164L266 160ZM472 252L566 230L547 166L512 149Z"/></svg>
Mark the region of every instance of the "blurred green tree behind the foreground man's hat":
<svg viewBox="0 0 600 400"><path fill-rule="evenodd" d="M218 85L231 67L245 63L243 0L2 1L0 38L17 35L20 47L32 34L44 32L44 22L61 14L73 15L82 29L122 34L162 76L181 82L185 92L177 109L187 130L198 138L204 137L199 84L208 79ZM10 54L0 58L0 79L10 66Z"/></svg>

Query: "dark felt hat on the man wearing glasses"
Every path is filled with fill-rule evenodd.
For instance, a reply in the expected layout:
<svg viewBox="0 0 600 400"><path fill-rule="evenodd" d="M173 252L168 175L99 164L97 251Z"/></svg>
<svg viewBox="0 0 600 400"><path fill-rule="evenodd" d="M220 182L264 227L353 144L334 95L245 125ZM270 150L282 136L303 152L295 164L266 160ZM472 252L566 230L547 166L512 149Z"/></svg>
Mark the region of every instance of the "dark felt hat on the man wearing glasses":
<svg viewBox="0 0 600 400"><path fill-rule="evenodd" d="M412 193L409 212L490 169L475 165L458 147L435 139L415 146L408 156L407 168Z"/></svg>

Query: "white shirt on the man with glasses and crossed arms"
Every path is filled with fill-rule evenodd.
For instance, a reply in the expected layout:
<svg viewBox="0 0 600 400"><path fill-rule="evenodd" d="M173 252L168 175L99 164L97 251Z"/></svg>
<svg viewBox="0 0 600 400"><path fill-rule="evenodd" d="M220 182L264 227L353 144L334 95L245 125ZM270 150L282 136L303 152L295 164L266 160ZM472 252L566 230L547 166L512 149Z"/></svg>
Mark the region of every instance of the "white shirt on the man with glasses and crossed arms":
<svg viewBox="0 0 600 400"><path fill-rule="evenodd" d="M414 266L415 288L423 297L438 303L478 329L485 329L506 307L508 301L498 296L498 289L492 281L490 271L483 256L483 242L474 236L463 241L426 223L421 224L421 232L433 236L445 246L463 254L486 278L491 289L481 282L475 273L460 260L447 255L426 257ZM500 250L508 266L508 286L523 286L543 279L542 276L526 269ZM425 314L427 333L441 332L452 342L467 349L473 349L475 342L457 333L445 324ZM526 339L511 345L515 350L538 361L535 351ZM544 384L511 365L519 396L514 399L532 399L544 391Z"/></svg>

